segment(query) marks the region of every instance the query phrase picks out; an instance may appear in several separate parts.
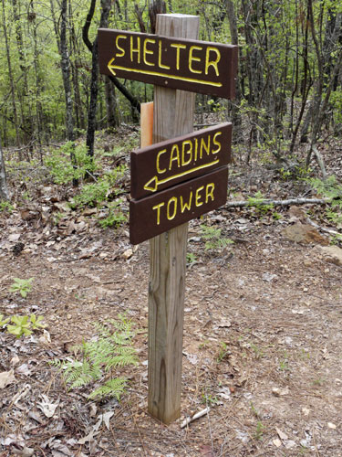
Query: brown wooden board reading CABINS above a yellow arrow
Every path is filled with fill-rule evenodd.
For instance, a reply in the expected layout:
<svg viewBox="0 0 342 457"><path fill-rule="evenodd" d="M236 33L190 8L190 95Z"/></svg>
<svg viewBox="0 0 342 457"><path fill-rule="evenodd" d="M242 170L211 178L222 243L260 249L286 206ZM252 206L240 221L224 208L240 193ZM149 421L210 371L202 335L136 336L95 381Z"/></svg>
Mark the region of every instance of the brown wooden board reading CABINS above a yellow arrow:
<svg viewBox="0 0 342 457"><path fill-rule="evenodd" d="M130 154L131 197L147 197L228 165L231 143L232 123L224 122L133 151Z"/></svg>

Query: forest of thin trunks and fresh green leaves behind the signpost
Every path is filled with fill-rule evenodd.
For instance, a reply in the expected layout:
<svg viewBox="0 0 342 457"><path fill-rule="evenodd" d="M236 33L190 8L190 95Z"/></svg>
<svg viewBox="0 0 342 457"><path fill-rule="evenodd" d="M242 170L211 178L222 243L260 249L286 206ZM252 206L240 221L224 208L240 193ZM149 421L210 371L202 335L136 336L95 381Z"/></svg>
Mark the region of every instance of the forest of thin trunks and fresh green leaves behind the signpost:
<svg viewBox="0 0 342 457"><path fill-rule="evenodd" d="M235 100L198 95L198 126L210 123L207 115L214 112L216 122L233 122L233 143L243 144L247 163L255 148L285 173L315 157L326 178L319 146L340 134L342 124L337 0L1 0L0 132L10 151L5 159L38 158L43 164L53 144L67 140L64 153L76 169L75 140L86 143L91 161L97 130L114 134L119 125L138 122L140 102L152 100L153 88L98 75L97 30L153 33L158 12L199 15L200 39L239 46ZM307 146L304 158L296 154L299 143ZM1 155L2 197L8 197Z"/></svg>

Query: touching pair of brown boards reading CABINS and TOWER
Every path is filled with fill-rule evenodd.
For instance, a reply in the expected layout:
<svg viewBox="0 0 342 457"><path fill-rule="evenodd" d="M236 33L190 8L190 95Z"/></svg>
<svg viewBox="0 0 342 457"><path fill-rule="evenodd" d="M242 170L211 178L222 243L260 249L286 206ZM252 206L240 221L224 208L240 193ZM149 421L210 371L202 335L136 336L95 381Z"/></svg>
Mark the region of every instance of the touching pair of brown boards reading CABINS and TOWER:
<svg viewBox="0 0 342 457"><path fill-rule="evenodd" d="M130 154L132 244L225 203L231 139L224 122Z"/></svg>

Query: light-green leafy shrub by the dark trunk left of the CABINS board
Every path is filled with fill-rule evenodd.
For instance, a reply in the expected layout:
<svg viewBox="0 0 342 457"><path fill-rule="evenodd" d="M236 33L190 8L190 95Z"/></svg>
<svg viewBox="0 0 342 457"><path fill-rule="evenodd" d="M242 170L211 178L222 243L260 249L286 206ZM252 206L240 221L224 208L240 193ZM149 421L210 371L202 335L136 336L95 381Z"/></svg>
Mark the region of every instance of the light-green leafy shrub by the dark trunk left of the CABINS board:
<svg viewBox="0 0 342 457"><path fill-rule="evenodd" d="M75 154L75 166L71 164L70 160L72 152ZM88 155L86 144L75 144L74 142L67 142L47 154L44 164L56 184L69 184L73 179L81 179L87 171L92 173L97 168L95 159Z"/></svg>

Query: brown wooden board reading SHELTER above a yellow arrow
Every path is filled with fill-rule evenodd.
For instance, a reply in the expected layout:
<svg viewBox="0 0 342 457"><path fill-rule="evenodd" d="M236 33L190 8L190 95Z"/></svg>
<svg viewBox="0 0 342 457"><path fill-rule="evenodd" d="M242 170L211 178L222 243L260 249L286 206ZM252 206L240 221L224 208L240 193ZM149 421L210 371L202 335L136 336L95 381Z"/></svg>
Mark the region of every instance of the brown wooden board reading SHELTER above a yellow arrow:
<svg viewBox="0 0 342 457"><path fill-rule="evenodd" d="M98 29L100 73L165 88L232 99L237 56L233 45Z"/></svg>

